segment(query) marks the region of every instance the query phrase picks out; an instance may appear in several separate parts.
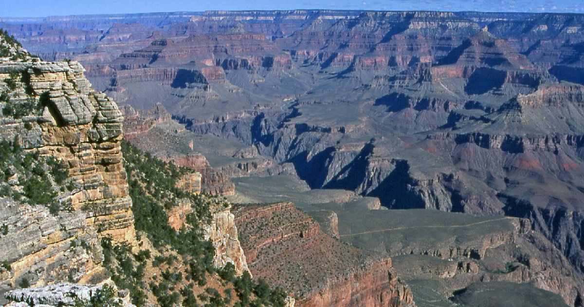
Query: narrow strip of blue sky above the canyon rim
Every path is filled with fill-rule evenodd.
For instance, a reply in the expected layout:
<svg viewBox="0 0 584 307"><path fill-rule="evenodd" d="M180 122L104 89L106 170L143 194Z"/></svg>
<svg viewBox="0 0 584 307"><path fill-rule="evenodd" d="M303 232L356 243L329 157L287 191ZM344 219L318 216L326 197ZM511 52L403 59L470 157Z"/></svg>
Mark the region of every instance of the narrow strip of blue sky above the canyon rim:
<svg viewBox="0 0 584 307"><path fill-rule="evenodd" d="M2 17L299 8L584 13L584 0L0 0Z"/></svg>

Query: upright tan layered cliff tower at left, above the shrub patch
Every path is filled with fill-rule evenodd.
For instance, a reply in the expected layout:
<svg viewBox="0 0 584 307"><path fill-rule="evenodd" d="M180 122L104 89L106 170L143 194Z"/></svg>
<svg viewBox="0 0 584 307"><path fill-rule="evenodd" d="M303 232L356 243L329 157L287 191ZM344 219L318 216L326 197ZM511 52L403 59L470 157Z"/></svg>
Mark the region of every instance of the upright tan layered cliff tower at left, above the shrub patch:
<svg viewBox="0 0 584 307"><path fill-rule="evenodd" d="M8 72L23 76L17 99L46 99L42 116L3 118L2 139L18 139L25 150L57 158L81 188L63 195L86 214L88 223L116 240L133 240L134 216L122 165L123 120L115 102L97 93L77 62L0 63L0 78ZM43 98L41 98L43 96ZM26 129L25 122L33 129Z"/></svg>

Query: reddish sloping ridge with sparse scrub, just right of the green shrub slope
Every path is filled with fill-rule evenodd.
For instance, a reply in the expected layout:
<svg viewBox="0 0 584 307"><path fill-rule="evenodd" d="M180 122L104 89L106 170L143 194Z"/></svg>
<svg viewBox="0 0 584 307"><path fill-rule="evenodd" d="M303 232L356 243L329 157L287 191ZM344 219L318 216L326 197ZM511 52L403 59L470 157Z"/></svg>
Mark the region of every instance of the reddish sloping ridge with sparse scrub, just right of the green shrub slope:
<svg viewBox="0 0 584 307"><path fill-rule="evenodd" d="M292 203L235 210L256 278L294 293L296 306L412 306L391 258L347 246Z"/></svg>

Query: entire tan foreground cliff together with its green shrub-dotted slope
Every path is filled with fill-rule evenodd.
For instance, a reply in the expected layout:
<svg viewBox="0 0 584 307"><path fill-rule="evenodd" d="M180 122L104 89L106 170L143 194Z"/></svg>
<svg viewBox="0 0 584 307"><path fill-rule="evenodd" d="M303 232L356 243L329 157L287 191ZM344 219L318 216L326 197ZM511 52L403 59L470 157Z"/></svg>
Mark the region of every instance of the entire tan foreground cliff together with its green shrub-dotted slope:
<svg viewBox="0 0 584 307"><path fill-rule="evenodd" d="M41 61L4 31L0 51L0 304L294 305L251 280L230 203L123 141L122 112L81 64Z"/></svg>

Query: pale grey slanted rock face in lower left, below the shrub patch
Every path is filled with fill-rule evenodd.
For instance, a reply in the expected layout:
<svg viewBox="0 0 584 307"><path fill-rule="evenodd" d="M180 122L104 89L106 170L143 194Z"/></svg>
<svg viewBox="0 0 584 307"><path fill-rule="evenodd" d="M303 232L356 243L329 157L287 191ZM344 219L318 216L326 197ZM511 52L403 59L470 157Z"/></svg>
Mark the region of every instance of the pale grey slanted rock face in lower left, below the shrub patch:
<svg viewBox="0 0 584 307"><path fill-rule="evenodd" d="M0 273L0 294L26 280L46 285L58 281L100 282L106 277L100 265L102 248L98 233L85 213L51 214L44 206L0 199L0 259L10 264Z"/></svg>

